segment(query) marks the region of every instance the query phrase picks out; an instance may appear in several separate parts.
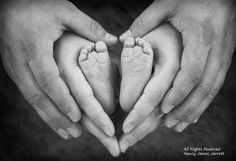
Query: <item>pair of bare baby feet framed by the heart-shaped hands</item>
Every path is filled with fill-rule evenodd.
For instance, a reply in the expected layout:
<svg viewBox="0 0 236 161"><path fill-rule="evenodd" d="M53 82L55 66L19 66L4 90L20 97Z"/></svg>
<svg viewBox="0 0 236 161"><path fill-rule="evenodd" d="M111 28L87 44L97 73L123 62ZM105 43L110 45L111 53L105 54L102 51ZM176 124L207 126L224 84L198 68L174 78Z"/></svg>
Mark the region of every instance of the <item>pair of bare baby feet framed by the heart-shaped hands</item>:
<svg viewBox="0 0 236 161"><path fill-rule="evenodd" d="M79 54L79 65L94 95L108 114L115 110L111 62L107 46L99 41L85 46ZM151 45L142 38L128 38L121 54L120 105L129 111L138 100L150 78L153 63Z"/></svg>

